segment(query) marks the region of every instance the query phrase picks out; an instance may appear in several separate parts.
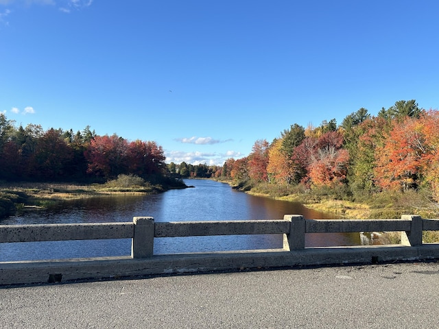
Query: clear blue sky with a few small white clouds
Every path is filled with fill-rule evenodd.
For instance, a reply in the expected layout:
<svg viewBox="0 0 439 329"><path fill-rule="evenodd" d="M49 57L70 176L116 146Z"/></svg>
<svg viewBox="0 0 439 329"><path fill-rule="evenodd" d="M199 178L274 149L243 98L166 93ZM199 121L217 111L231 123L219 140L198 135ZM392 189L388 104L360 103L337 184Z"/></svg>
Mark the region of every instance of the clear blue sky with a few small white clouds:
<svg viewBox="0 0 439 329"><path fill-rule="evenodd" d="M436 0L0 0L0 112L223 164L290 125L439 108Z"/></svg>

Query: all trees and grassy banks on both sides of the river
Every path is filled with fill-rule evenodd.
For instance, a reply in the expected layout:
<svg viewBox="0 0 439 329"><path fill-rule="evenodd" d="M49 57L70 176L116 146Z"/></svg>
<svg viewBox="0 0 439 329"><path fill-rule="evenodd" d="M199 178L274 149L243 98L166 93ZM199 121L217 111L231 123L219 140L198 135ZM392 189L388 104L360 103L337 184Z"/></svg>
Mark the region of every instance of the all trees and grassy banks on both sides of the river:
<svg viewBox="0 0 439 329"><path fill-rule="evenodd" d="M90 127L76 133L16 127L0 113L0 182L74 182L86 186L76 194L88 195L158 193L185 187L181 178L211 178L347 218L403 213L434 218L439 210L437 127L438 110L418 108L414 100L396 101L376 117L360 108L340 125L335 119L318 127L294 123L271 143L255 141L248 156L229 158L220 167L166 164L155 142L98 136ZM11 202L22 202L23 194L2 191L0 213L10 213Z"/></svg>

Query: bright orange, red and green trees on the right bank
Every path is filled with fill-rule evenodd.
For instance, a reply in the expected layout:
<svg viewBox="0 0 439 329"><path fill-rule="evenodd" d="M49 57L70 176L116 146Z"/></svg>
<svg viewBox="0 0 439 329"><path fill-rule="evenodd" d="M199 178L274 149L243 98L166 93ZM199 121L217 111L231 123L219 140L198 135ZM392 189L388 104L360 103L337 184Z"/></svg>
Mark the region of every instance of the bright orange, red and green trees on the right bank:
<svg viewBox="0 0 439 329"><path fill-rule="evenodd" d="M221 176L259 183L327 188L359 197L426 188L439 201L439 112L414 99L371 116L360 108L320 126L294 123L272 143L254 143L245 158L229 158Z"/></svg>

